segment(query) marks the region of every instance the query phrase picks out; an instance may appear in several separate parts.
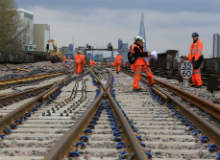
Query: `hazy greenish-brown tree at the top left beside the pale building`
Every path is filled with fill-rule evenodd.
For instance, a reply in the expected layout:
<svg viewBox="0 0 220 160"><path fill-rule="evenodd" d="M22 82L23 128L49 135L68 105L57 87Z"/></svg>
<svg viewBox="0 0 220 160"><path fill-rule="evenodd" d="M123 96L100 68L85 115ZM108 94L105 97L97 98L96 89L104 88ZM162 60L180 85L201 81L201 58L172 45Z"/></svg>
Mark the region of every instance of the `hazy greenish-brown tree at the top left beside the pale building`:
<svg viewBox="0 0 220 160"><path fill-rule="evenodd" d="M13 53L22 50L22 36L26 30L16 11L15 1L0 0L0 51Z"/></svg>

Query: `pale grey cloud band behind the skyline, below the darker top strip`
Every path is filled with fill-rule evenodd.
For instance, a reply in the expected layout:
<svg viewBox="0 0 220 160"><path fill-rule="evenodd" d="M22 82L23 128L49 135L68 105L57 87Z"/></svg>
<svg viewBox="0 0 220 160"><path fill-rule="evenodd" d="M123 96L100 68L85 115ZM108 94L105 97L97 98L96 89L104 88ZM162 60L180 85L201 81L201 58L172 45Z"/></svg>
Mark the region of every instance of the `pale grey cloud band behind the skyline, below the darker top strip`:
<svg viewBox="0 0 220 160"><path fill-rule="evenodd" d="M30 8L30 10L32 10ZM35 7L36 23L51 24L52 37L59 46L67 45L74 38L76 45L105 46L112 42L117 46L117 39L122 38L130 44L138 33L139 10L90 10L87 16L77 11L59 11ZM176 14L146 10L145 26L149 49L163 52L177 49L180 54L187 54L192 41L191 33L197 31L204 42L206 57L211 56L212 34L219 32L220 14L178 12ZM193 17L193 18L192 18Z"/></svg>

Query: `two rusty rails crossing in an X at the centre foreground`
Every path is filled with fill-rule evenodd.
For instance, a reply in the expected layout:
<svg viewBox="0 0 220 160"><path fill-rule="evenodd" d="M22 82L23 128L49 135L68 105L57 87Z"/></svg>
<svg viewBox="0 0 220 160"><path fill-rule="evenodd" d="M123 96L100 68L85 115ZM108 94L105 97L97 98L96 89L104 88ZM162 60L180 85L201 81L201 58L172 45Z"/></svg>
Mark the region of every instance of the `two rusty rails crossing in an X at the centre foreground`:
<svg viewBox="0 0 220 160"><path fill-rule="evenodd" d="M140 146L139 140L134 135L131 127L129 126L127 120L123 116L122 111L118 108L116 102L110 94L111 91L111 82L112 82L112 74L108 83L104 86L98 77L95 75L93 71L91 74L96 79L96 81L102 86L101 92L96 100L89 106L89 108L83 113L82 117L78 120L76 125L71 128L63 138L50 150L49 154L45 156L44 160L60 160L67 155L67 153L74 148L72 145L74 142L77 142L78 138L81 135L81 132L87 127L93 115L97 111L102 99L108 98L112 108L115 110L119 120L123 126L125 133L128 136L128 140L130 142L130 146L135 153L135 159L137 160L147 160L146 155L144 153L143 147Z"/></svg>

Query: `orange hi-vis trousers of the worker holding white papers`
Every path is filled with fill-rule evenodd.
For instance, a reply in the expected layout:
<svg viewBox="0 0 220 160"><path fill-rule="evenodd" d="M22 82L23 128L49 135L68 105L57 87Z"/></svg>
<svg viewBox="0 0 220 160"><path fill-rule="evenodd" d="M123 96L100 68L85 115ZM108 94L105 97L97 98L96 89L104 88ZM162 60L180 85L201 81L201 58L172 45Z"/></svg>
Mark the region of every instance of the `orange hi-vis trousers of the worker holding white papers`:
<svg viewBox="0 0 220 160"><path fill-rule="evenodd" d="M141 79L141 73L145 73L150 85L155 83L151 69L147 65L134 65L134 81L133 89L139 89L139 82Z"/></svg>

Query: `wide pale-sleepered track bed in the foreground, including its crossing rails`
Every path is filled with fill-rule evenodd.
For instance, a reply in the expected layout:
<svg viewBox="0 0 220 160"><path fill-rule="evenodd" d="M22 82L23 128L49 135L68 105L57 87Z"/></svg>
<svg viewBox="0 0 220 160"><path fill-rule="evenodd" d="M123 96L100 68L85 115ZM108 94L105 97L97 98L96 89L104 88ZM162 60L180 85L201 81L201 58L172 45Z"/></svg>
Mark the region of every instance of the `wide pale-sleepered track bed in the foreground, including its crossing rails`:
<svg viewBox="0 0 220 160"><path fill-rule="evenodd" d="M28 119L21 125L16 114L3 116L0 159L220 159L219 128L206 115L145 81L144 92L132 92L124 73L95 68L90 75L51 86L37 99L41 108L21 114Z"/></svg>

